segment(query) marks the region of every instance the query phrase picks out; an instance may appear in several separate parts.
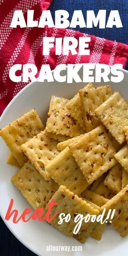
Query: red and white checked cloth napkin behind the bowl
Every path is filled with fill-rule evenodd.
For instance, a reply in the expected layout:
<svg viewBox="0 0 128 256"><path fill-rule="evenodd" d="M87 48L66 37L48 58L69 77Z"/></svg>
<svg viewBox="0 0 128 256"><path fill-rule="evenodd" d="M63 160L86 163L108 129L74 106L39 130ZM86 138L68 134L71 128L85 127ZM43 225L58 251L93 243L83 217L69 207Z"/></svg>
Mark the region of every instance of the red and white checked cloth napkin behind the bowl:
<svg viewBox="0 0 128 256"><path fill-rule="evenodd" d="M128 45L109 41L93 35L82 34L69 29L44 29L11 28L11 20L15 10L22 10L27 19L27 10L34 10L34 19L39 20L42 10L47 10L52 0L2 0L0 1L0 115L11 99L27 83L12 82L9 78L9 70L14 64L35 64L39 70L42 64L50 64L54 69L56 65L68 63L104 63L113 65L123 64L125 68L128 58ZM63 56L55 54L54 48L50 50L49 56L42 55L43 37L91 37L89 43L90 55L79 56L79 54ZM76 49L78 52L78 49ZM37 76L38 76L37 74Z"/></svg>

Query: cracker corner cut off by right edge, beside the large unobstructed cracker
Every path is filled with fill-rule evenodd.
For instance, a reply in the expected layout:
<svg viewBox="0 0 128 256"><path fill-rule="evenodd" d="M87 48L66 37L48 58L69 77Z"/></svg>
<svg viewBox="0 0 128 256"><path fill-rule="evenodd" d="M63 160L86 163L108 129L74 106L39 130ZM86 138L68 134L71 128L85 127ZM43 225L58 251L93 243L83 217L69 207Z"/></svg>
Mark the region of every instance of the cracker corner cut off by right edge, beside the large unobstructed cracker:
<svg viewBox="0 0 128 256"><path fill-rule="evenodd" d="M115 158L128 172L128 144L116 153Z"/></svg>

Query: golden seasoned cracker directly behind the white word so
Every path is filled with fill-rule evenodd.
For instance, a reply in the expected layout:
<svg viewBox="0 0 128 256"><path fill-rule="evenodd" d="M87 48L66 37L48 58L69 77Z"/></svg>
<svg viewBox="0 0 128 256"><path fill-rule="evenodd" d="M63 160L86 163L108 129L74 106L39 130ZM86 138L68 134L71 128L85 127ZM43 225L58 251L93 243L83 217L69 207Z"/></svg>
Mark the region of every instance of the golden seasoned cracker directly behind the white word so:
<svg viewBox="0 0 128 256"><path fill-rule="evenodd" d="M74 222L74 218L78 213L83 214L84 217L87 214L91 214L91 215L99 214L99 211L97 209L94 209L94 207L90 206L90 204L86 203L86 201L82 200L80 197L75 195L65 186L60 186L59 189L56 191L56 193L53 195L52 199L53 198L54 198L54 201L59 204L52 208L50 218L56 213L56 211L58 211L59 214L63 212L65 216L67 214L71 214L72 218L70 222L63 221L63 223L59 225L58 221L60 219L59 219L59 215L57 215L49 223L69 237L74 235L73 231L74 231L74 227L76 226L76 223ZM48 206L45 206L43 216L46 214L47 211L48 211ZM83 221L80 231L85 229L89 224L90 222L85 223Z"/></svg>

